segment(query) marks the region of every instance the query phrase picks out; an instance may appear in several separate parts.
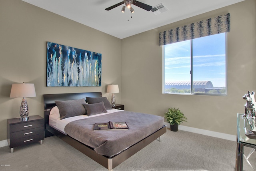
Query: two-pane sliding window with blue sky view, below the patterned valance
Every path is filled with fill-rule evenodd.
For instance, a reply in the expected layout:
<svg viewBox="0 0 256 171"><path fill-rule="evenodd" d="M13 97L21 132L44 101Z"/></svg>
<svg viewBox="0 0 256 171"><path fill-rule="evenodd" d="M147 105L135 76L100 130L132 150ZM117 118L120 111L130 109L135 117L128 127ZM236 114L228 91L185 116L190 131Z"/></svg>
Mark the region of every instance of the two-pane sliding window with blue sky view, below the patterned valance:
<svg viewBox="0 0 256 171"><path fill-rule="evenodd" d="M226 95L226 33L164 45L163 65L163 93Z"/></svg>

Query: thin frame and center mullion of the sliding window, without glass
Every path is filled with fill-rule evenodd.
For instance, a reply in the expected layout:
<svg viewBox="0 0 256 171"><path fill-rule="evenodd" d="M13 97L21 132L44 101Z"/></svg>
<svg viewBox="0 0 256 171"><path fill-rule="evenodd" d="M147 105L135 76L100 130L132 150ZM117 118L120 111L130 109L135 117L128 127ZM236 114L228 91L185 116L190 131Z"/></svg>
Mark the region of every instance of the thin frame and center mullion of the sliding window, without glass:
<svg viewBox="0 0 256 171"><path fill-rule="evenodd" d="M221 33L220 33L221 34ZM225 78L226 78L226 85L225 93L194 93L193 90L193 39L190 39L190 93L166 93L165 92L165 48L163 45L162 46L162 93L163 94L179 94L179 95L214 95L214 96L227 96L228 92L228 32L224 32L225 34L225 65L226 65L226 70L225 70ZM211 35L210 35L211 36Z"/></svg>

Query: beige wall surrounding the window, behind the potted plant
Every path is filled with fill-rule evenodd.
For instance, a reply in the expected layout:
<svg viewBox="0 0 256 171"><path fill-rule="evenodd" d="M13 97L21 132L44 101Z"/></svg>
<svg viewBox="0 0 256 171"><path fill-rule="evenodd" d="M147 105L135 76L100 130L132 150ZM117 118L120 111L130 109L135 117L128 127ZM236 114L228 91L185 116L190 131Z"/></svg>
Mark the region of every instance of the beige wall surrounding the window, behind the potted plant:
<svg viewBox="0 0 256 171"><path fill-rule="evenodd" d="M230 13L228 33L228 95L162 94L162 47L159 32ZM184 126L236 135L236 113L244 112L247 91L256 90L256 2L207 12L122 40L122 103L127 110L163 116L179 107L188 117Z"/></svg>

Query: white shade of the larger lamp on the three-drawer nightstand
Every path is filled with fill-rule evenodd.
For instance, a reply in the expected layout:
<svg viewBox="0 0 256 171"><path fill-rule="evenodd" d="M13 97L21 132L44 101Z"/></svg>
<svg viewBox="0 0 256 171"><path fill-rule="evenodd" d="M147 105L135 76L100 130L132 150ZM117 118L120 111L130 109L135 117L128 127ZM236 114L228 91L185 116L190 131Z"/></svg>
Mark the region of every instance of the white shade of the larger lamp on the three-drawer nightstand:
<svg viewBox="0 0 256 171"><path fill-rule="evenodd" d="M10 97L36 97L35 85L25 83L12 84Z"/></svg>

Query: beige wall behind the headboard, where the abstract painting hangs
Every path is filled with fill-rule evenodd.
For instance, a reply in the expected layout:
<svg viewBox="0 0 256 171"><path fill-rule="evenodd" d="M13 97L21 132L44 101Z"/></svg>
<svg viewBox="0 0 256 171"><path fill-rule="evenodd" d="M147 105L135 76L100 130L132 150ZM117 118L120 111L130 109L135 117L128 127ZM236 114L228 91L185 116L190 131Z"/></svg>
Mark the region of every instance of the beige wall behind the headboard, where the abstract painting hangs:
<svg viewBox="0 0 256 171"><path fill-rule="evenodd" d="M101 87L46 87L46 42L102 54ZM121 40L21 0L0 0L0 141L7 139L6 119L19 117L21 98L10 98L12 83L34 83L27 98L29 115L43 115L43 94L102 91L121 86ZM121 93L116 93L121 102Z"/></svg>

